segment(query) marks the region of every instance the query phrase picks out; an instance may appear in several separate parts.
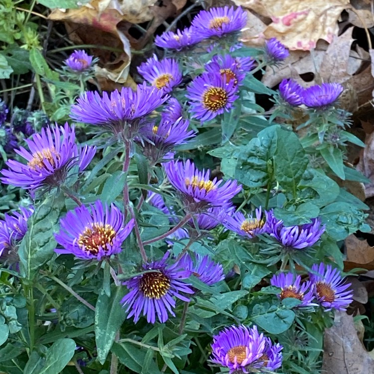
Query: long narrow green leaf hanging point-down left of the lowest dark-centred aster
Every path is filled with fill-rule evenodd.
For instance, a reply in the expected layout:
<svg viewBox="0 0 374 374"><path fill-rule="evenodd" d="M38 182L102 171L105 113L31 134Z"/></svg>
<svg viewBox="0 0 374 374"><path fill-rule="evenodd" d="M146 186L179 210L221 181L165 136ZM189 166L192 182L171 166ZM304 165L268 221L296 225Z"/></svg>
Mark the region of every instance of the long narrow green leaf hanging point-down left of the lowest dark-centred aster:
<svg viewBox="0 0 374 374"><path fill-rule="evenodd" d="M126 319L126 313L120 301L124 296L121 287L114 286L111 296L105 293L99 295L95 310L95 339L97 358L101 364L105 363L117 331Z"/></svg>

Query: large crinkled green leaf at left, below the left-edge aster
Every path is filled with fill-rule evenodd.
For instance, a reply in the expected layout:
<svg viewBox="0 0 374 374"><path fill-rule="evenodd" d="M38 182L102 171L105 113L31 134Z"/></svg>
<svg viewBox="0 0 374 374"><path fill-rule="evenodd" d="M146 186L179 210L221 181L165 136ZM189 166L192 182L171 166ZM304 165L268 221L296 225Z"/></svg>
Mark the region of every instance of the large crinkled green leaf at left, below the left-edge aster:
<svg viewBox="0 0 374 374"><path fill-rule="evenodd" d="M19 272L32 280L38 269L50 260L56 248L53 233L58 229L58 218L64 206L62 193L49 195L27 220L27 233L18 250Z"/></svg>

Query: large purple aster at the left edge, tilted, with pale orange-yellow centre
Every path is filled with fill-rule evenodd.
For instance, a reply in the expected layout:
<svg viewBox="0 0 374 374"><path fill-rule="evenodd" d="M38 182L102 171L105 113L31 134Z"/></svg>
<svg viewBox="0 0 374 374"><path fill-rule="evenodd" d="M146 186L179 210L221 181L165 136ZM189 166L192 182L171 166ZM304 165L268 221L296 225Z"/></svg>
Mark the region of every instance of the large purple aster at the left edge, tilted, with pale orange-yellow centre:
<svg viewBox="0 0 374 374"><path fill-rule="evenodd" d="M62 136L62 139L61 139ZM33 139L26 139L29 151L23 147L15 152L27 161L22 164L9 160L9 170L1 171L2 183L25 189L42 186L58 187L66 179L71 168L77 166L79 172L87 168L95 156L95 147L78 147L75 144L75 130L68 123L65 126L41 129Z"/></svg>

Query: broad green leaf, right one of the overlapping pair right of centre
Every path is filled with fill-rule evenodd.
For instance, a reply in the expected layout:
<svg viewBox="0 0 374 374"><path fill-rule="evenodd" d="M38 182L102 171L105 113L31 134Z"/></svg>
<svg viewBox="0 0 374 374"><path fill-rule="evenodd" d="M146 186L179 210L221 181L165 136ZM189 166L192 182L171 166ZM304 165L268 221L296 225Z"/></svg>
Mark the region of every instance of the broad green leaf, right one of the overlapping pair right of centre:
<svg viewBox="0 0 374 374"><path fill-rule="evenodd" d="M307 166L308 159L297 135L278 127L274 153L275 179L295 195Z"/></svg>

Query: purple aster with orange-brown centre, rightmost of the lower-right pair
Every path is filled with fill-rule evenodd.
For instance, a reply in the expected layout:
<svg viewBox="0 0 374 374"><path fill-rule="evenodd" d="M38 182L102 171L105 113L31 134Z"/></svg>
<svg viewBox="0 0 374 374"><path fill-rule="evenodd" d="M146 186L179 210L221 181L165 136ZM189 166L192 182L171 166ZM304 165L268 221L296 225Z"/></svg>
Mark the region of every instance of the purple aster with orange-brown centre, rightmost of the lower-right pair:
<svg viewBox="0 0 374 374"><path fill-rule="evenodd" d="M333 269L331 265L324 263L314 264L309 273L309 278L314 285L317 301L326 308L326 311L346 310L352 303L353 290L347 290L351 283L345 283L338 269Z"/></svg>

